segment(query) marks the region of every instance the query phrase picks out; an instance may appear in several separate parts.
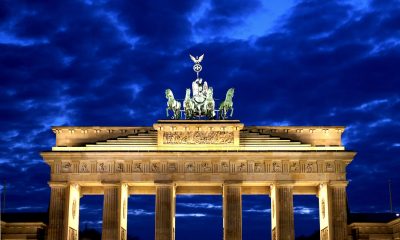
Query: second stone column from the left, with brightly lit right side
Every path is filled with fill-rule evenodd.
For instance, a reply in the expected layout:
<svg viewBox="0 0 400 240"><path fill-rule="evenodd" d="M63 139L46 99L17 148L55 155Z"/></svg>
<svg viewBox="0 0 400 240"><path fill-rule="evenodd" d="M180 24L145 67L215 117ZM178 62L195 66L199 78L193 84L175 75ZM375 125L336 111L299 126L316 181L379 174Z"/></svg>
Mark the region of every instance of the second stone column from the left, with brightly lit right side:
<svg viewBox="0 0 400 240"><path fill-rule="evenodd" d="M104 187L102 239L127 238L128 196L127 184Z"/></svg>

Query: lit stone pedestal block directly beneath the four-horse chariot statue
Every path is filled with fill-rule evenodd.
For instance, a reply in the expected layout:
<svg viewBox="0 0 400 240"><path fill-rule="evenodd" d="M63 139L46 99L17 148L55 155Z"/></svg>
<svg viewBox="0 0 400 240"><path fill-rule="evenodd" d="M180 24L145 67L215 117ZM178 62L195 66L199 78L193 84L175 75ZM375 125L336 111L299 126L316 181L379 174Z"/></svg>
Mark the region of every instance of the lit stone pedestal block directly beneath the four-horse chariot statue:
<svg viewBox="0 0 400 240"><path fill-rule="evenodd" d="M228 150L239 147L239 120L159 120L157 130L160 150Z"/></svg>

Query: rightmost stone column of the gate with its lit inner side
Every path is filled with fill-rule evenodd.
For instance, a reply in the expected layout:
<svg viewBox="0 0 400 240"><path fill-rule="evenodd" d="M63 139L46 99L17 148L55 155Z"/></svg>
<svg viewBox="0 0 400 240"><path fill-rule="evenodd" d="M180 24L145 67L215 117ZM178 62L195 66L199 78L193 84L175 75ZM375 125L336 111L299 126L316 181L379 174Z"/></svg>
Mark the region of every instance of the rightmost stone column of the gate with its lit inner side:
<svg viewBox="0 0 400 240"><path fill-rule="evenodd" d="M347 239L346 182L323 183L319 187L321 240Z"/></svg>

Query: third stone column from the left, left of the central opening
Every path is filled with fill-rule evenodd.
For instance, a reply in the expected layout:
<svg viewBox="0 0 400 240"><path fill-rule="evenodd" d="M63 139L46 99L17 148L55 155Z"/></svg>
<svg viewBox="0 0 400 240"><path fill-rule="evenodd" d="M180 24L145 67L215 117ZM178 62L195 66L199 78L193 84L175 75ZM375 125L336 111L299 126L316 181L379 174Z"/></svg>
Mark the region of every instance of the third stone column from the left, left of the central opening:
<svg viewBox="0 0 400 240"><path fill-rule="evenodd" d="M156 240L175 239L175 186L156 185Z"/></svg>

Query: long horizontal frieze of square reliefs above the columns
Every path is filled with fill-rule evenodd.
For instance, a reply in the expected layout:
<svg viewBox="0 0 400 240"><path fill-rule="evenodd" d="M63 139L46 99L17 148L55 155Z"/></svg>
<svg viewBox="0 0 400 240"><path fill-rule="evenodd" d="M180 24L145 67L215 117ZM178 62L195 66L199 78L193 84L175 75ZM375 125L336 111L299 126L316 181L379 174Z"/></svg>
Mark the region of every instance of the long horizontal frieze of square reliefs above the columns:
<svg viewBox="0 0 400 240"><path fill-rule="evenodd" d="M333 161L60 161L55 173L343 173Z"/></svg>

